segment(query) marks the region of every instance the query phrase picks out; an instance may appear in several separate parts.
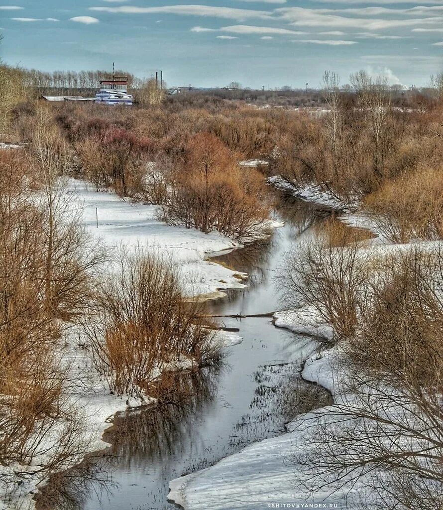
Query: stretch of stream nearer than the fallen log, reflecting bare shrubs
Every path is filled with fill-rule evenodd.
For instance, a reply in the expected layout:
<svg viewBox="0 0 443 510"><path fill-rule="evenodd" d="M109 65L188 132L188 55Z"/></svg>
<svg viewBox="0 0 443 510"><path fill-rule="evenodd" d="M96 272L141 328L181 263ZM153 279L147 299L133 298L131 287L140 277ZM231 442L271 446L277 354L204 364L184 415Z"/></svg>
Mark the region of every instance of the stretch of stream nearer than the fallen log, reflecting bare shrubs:
<svg viewBox="0 0 443 510"><path fill-rule="evenodd" d="M174 389L158 405L118 417L105 438L113 443L106 456L91 460L88 472L82 466L51 480L40 508L176 508L167 501L170 479L284 431L293 415L290 377L314 347L307 339L296 346L294 335L269 319L245 321L241 333L243 344L232 347L223 365L170 374L165 386Z"/></svg>

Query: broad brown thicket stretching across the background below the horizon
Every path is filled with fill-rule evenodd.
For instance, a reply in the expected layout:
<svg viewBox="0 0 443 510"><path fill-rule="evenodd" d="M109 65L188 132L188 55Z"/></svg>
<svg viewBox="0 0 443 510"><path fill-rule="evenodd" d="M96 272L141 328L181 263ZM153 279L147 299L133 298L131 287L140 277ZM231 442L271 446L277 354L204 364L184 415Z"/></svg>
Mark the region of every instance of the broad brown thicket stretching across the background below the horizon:
<svg viewBox="0 0 443 510"><path fill-rule="evenodd" d="M72 170L83 172L97 189L148 201L158 191L149 192L153 175L146 163L168 160L181 171L193 138L204 133L239 158L267 158L271 172L299 185L319 183L348 203L391 182L403 185L422 168L441 168L438 94L400 96L364 71L353 74L351 82L352 88L339 90L338 76L325 73L319 94L327 111L257 109L234 98L185 94L161 106L132 109L50 105L47 117L79 156ZM35 112L29 104L14 112L16 129L30 138Z"/></svg>

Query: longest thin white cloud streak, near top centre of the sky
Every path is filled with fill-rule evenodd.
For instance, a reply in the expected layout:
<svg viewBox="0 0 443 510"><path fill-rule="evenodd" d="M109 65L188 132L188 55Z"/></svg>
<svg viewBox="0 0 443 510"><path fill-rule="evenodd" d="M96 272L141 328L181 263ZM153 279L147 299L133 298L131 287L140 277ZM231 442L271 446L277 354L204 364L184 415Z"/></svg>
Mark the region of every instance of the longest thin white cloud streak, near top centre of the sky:
<svg viewBox="0 0 443 510"><path fill-rule="evenodd" d="M230 7L214 7L206 5L169 5L161 7L90 7L90 11L109 12L116 14L181 14L184 16L211 16L225 19L270 18L267 11L235 9Z"/></svg>

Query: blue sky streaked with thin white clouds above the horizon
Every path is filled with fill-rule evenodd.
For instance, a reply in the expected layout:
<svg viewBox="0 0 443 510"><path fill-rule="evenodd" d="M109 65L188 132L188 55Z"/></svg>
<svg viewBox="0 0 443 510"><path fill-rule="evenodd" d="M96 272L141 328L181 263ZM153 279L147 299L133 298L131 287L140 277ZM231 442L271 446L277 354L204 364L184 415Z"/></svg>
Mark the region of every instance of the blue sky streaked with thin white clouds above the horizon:
<svg viewBox="0 0 443 510"><path fill-rule="evenodd" d="M325 69L425 85L443 71L443 0L0 0L10 64L163 69L169 85L317 87Z"/></svg>

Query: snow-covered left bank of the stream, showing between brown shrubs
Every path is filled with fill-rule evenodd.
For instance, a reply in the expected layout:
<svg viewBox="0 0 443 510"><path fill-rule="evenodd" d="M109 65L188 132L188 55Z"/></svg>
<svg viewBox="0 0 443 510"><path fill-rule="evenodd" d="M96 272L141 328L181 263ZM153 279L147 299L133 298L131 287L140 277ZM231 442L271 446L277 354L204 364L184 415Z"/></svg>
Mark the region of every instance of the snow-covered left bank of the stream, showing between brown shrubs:
<svg viewBox="0 0 443 510"><path fill-rule="evenodd" d="M80 225L99 239L110 258L120 247L125 247L129 251L137 248L153 250L159 257L170 260L179 272L185 296L214 299L225 296L223 291L227 289L246 287L243 283L245 274L207 260L219 252L241 247L238 242L217 232L203 234L195 229L169 226L157 219L156 206L122 200L114 193L96 192L84 181L69 179L66 199L69 210L77 215ZM275 226L278 224L270 222L266 230ZM241 342L241 337L227 331L217 331L215 341L226 348ZM68 384L69 394L65 397L84 417L85 446L80 456L76 454L66 460L67 469L79 463L88 452L109 446L102 436L112 426L116 414L148 405L153 399L143 393L138 396L111 394L103 376L91 366L82 333L75 326L69 328L58 355L61 363L70 367L71 384ZM183 358L179 362L162 364L157 368L157 376L164 370L186 370L193 364L193 360ZM0 469L2 476L8 480L2 495L3 510L34 507L32 498L46 480L41 475L31 473L36 471L39 463L50 458L51 450L56 447L56 438L57 434L54 433L45 440L43 448L47 449L47 453L35 458L33 466Z"/></svg>

